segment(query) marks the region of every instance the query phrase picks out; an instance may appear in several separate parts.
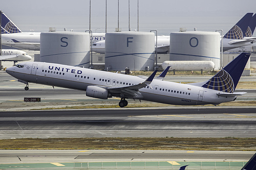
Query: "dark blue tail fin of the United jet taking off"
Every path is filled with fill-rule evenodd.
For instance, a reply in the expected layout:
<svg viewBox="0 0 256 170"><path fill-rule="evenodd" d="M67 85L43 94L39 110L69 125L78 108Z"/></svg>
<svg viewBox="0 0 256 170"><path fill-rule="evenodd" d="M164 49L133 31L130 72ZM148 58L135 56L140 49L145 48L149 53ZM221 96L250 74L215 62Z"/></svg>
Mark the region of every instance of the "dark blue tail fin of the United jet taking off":
<svg viewBox="0 0 256 170"><path fill-rule="evenodd" d="M214 77L202 85L202 87L233 93L249 57L250 54L241 53L222 68Z"/></svg>

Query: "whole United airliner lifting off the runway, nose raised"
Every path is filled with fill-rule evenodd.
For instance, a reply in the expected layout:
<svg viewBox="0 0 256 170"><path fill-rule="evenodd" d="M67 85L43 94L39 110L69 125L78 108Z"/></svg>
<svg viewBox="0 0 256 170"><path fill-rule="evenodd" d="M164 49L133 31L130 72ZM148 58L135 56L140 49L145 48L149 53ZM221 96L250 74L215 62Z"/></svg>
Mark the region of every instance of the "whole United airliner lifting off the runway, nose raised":
<svg viewBox="0 0 256 170"><path fill-rule="evenodd" d="M86 95L108 99L138 99L173 105L218 105L237 99L246 92L234 92L250 54L242 53L206 82L180 84L163 81L168 68L154 79L157 70L147 79L69 65L45 62L24 62L7 68L6 72L23 82L86 91Z"/></svg>

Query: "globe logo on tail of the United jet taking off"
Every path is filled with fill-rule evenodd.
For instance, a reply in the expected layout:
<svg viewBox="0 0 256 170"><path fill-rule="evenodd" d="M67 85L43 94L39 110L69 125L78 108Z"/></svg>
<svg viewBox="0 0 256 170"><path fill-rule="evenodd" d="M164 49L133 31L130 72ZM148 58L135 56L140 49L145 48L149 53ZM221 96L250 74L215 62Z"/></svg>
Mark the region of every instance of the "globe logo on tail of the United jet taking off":
<svg viewBox="0 0 256 170"><path fill-rule="evenodd" d="M218 74L212 77L207 83L205 83L202 87L225 91L229 93L234 92L234 82L232 77L228 74L228 72L224 69L220 70Z"/></svg>

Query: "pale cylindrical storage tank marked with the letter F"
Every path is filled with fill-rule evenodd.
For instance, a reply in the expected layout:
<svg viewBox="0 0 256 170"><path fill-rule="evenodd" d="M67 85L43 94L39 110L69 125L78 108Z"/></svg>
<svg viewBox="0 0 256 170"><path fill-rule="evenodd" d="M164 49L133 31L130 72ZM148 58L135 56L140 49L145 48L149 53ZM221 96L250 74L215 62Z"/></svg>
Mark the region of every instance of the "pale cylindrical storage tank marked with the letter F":
<svg viewBox="0 0 256 170"><path fill-rule="evenodd" d="M105 69L154 70L155 34L115 32L105 35Z"/></svg>

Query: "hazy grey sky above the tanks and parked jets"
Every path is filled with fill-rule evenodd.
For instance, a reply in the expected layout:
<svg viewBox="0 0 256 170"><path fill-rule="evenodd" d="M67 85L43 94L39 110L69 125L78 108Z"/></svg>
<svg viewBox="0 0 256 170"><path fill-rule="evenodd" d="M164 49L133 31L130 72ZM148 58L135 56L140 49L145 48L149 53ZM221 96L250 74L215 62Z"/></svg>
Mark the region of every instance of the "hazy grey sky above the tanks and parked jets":
<svg viewBox="0 0 256 170"><path fill-rule="evenodd" d="M55 27L74 31L89 29L89 0L2 0L0 8L23 32ZM91 0L91 29L105 32L105 0ZM158 34L194 27L200 31L223 29L226 33L247 12L256 13L255 0L139 0L139 31ZM128 0L119 0L119 28L128 31ZM130 25L137 29L137 0L130 0ZM107 31L117 28L117 0L107 0ZM256 34L254 34L256 35Z"/></svg>

